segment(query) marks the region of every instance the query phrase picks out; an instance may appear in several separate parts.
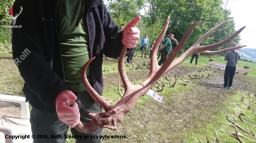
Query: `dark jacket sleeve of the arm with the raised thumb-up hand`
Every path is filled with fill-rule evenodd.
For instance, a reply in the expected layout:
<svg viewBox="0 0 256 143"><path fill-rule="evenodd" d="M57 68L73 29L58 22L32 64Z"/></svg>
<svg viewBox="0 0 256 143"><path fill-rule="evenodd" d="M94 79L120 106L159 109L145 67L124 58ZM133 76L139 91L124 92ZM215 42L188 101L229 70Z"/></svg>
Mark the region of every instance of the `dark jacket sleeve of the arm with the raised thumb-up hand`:
<svg viewBox="0 0 256 143"><path fill-rule="evenodd" d="M104 4L102 4L104 5ZM118 25L111 19L110 14L107 11L106 6L104 5L104 23L103 30L105 35L104 43L104 55L108 57L118 57L121 54L123 47L122 37L123 31L119 32ZM125 56L128 56L132 52L132 49L127 48Z"/></svg>

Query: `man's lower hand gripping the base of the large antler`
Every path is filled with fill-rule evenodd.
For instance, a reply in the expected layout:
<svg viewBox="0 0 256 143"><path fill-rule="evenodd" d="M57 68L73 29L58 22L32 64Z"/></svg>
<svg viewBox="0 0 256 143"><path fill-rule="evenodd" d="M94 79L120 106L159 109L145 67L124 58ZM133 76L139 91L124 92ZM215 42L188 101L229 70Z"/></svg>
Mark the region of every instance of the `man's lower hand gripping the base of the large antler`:
<svg viewBox="0 0 256 143"><path fill-rule="evenodd" d="M58 118L68 126L74 128L80 121L80 112L76 102L72 107L70 101L75 101L77 97L71 91L63 91L56 97L56 112Z"/></svg>

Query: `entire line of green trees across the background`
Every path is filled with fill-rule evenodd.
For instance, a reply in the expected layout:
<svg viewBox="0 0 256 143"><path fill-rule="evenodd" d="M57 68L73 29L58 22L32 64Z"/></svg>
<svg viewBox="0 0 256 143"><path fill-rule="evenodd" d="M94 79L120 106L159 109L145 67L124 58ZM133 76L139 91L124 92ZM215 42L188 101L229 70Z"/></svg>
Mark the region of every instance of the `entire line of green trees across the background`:
<svg viewBox="0 0 256 143"><path fill-rule="evenodd" d="M141 22L137 27L142 30L141 37L144 37L144 34L147 33L151 42L155 41L162 31L162 27L168 16L170 16L170 23L167 33L174 33L178 41L181 40L191 24L196 21L202 21L200 25L195 27L193 34L184 45L183 51L189 49L203 34L225 20L228 21L210 34L201 45L220 42L236 32L233 17L230 16L230 11L224 8L228 1L108 0L105 3L117 25L126 25L131 19L138 15L141 16ZM232 42L240 44L240 40L240 36L237 36L229 44L214 50L228 48Z"/></svg>

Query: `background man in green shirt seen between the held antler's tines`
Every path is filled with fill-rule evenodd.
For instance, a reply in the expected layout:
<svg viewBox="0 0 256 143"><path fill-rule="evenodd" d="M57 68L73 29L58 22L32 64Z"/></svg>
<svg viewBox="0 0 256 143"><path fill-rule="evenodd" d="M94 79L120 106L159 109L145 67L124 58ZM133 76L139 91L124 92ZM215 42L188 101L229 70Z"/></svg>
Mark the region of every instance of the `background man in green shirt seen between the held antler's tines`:
<svg viewBox="0 0 256 143"><path fill-rule="evenodd" d="M171 43L171 39L170 39L171 35L168 35L162 44L162 47L159 48L160 52L161 52L161 59L158 62L158 65L161 66L162 64L164 64L164 62L168 59L169 54L171 53L172 50L172 43Z"/></svg>

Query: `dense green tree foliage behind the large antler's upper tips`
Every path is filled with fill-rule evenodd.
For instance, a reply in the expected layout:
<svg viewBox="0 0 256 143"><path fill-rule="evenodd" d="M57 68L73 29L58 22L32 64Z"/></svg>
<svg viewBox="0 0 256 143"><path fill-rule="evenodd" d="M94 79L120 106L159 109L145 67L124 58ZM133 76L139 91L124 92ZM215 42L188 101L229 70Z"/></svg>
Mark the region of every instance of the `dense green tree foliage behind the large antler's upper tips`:
<svg viewBox="0 0 256 143"><path fill-rule="evenodd" d="M207 37L201 45L209 45L220 42L235 32L235 23L230 17L230 12L222 8L222 0L145 0L145 18L143 24L151 27L157 19L166 19L170 16L170 24L167 33L174 33L175 38L180 41L188 27L196 21L202 21L197 25L193 34L184 45L187 50L203 34L214 28L224 20L227 21L218 30ZM162 25L165 20L162 20ZM237 36L232 42L239 44L240 37ZM219 49L227 48L232 43L226 44ZM224 53L225 54L225 53Z"/></svg>

